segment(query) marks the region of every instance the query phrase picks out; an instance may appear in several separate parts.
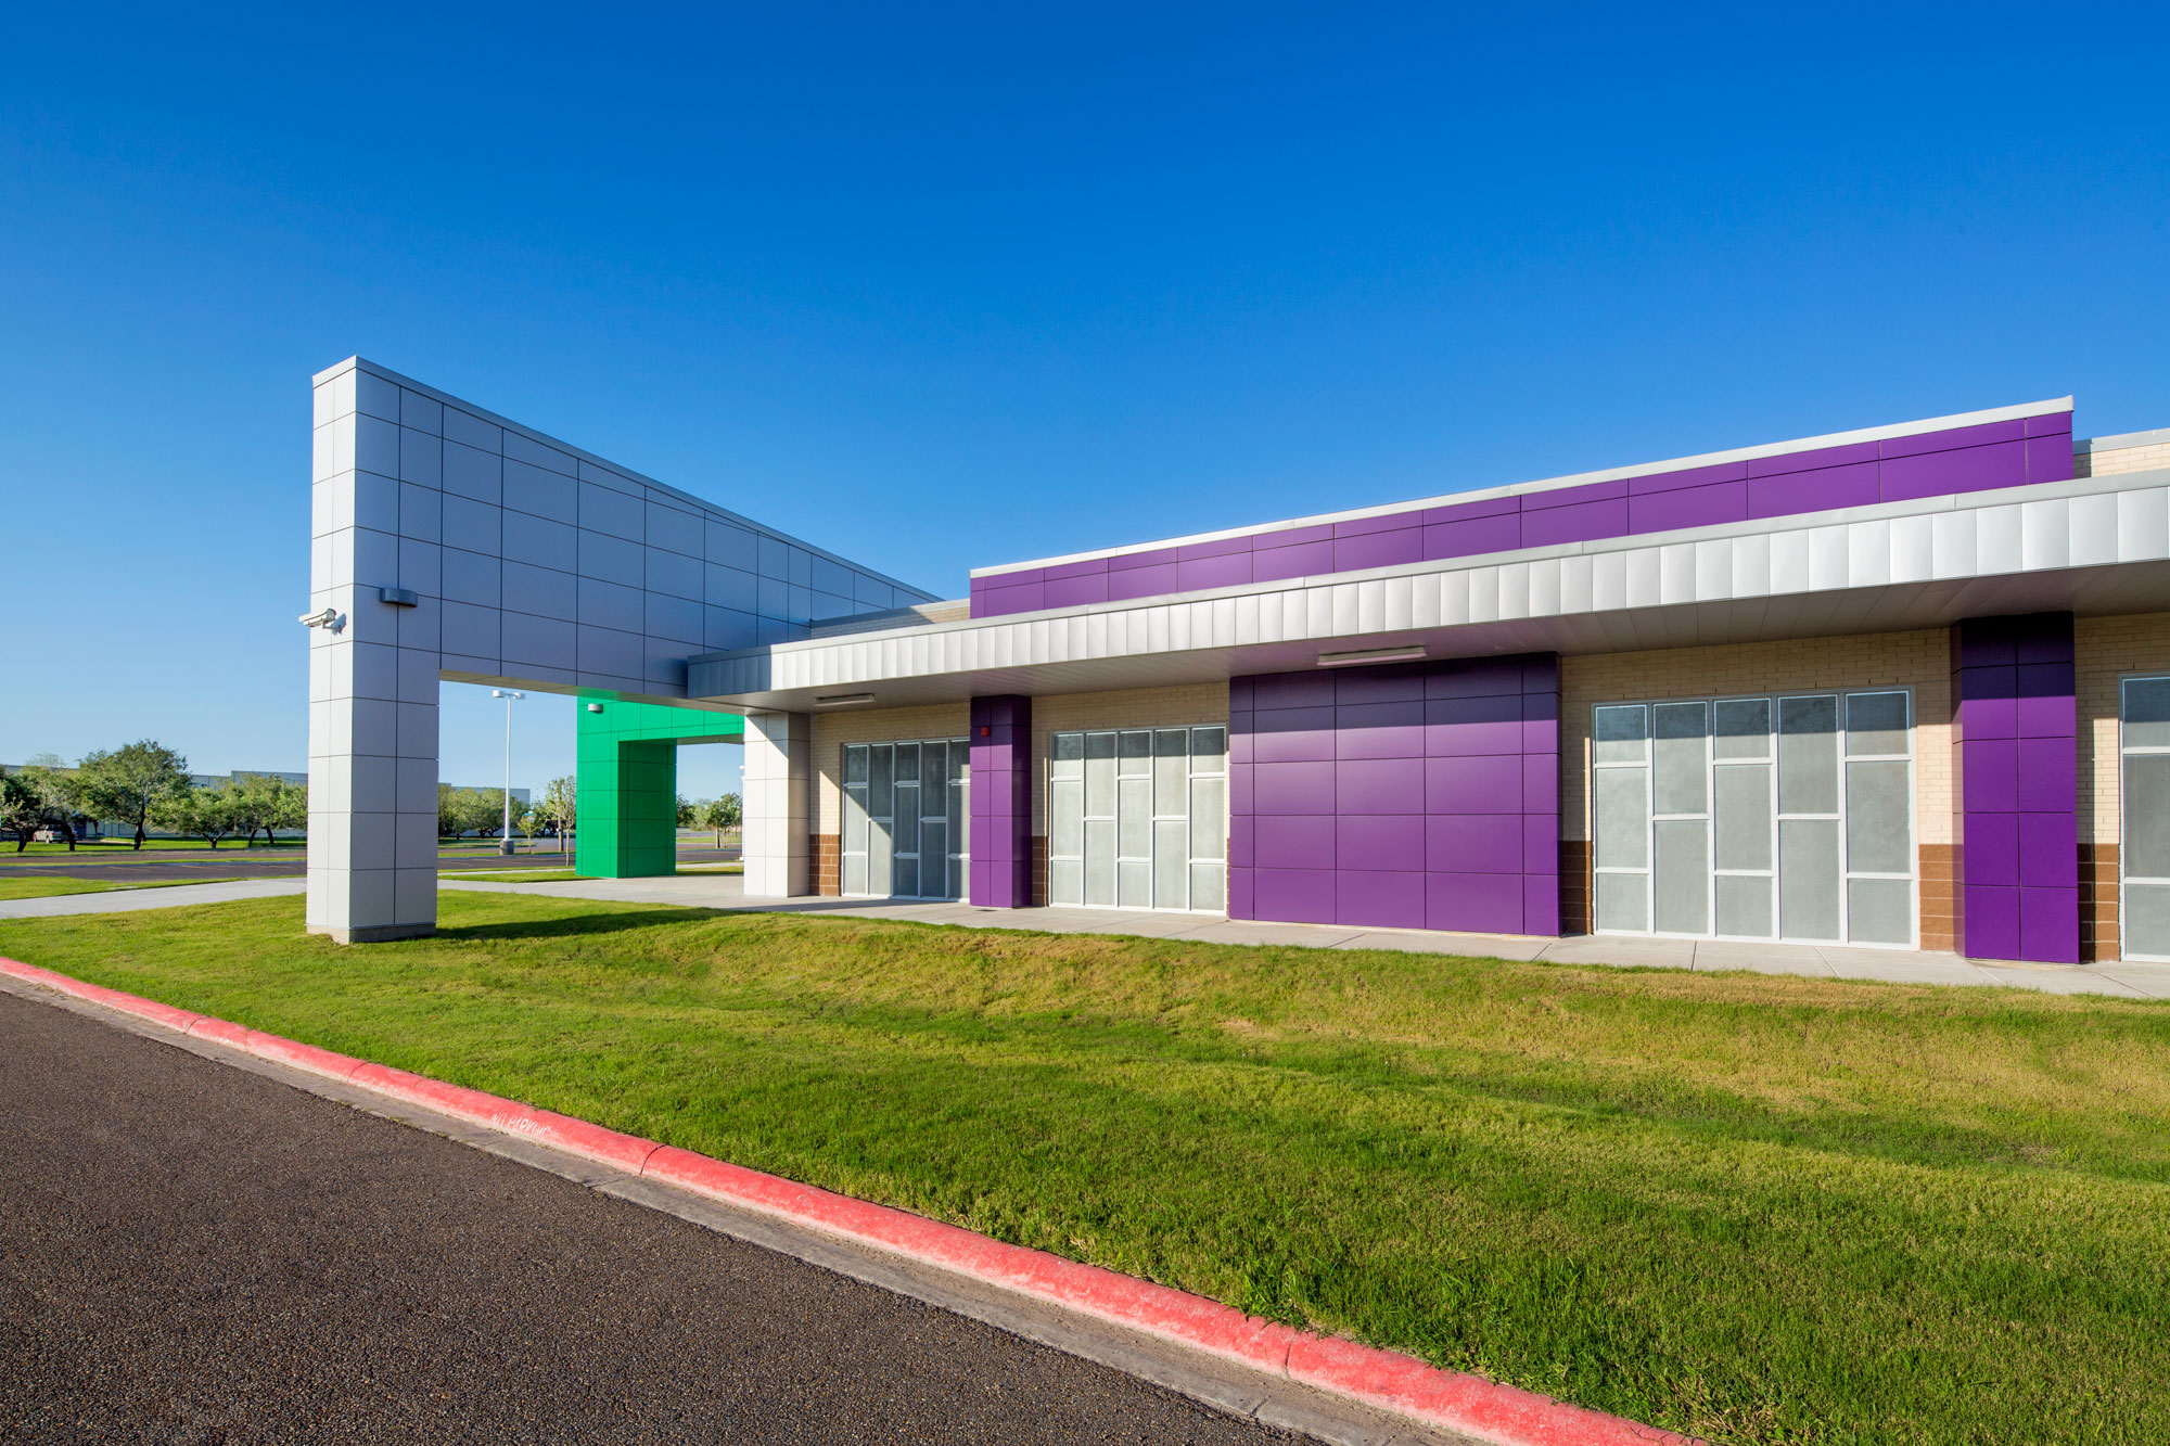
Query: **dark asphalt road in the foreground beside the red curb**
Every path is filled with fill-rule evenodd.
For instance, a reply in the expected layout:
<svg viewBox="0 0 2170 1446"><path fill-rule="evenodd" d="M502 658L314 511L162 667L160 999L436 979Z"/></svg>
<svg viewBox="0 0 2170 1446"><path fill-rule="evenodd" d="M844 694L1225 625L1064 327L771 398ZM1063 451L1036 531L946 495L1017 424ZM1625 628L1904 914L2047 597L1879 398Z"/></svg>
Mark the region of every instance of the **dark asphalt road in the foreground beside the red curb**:
<svg viewBox="0 0 2170 1446"><path fill-rule="evenodd" d="M1298 1442L0 994L0 1439Z"/></svg>

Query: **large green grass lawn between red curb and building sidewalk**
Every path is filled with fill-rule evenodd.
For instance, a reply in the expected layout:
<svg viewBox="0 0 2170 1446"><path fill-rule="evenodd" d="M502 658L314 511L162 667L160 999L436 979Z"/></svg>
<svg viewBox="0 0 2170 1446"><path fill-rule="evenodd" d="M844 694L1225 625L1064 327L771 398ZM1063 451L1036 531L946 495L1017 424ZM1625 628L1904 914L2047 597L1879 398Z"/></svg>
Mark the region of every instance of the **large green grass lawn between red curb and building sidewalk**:
<svg viewBox="0 0 2170 1446"><path fill-rule="evenodd" d="M443 895L0 953L1719 1442L2170 1439L2170 1007Z"/></svg>

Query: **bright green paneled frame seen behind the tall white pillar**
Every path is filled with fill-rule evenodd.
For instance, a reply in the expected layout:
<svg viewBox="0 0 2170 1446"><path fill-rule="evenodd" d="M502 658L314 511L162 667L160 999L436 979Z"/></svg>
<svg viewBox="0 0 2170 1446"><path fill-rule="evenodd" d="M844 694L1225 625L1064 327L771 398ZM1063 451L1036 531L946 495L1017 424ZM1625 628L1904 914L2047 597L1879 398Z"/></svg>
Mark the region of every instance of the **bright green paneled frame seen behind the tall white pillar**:
<svg viewBox="0 0 2170 1446"><path fill-rule="evenodd" d="M675 873L677 749L681 743L744 743L746 721L736 712L614 699L584 701L577 719L575 866L597 879Z"/></svg>

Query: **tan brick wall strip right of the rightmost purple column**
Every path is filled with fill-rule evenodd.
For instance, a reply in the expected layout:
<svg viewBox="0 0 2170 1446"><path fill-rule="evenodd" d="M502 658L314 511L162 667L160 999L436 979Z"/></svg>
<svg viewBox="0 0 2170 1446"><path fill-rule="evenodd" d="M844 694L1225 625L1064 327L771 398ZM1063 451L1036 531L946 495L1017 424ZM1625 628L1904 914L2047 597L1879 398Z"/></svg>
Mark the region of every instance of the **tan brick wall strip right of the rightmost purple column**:
<svg viewBox="0 0 2170 1446"><path fill-rule="evenodd" d="M2170 465L2170 462L2163 462ZM2118 957L2118 680L2170 673L2170 612L2072 623L2079 706L2079 957Z"/></svg>

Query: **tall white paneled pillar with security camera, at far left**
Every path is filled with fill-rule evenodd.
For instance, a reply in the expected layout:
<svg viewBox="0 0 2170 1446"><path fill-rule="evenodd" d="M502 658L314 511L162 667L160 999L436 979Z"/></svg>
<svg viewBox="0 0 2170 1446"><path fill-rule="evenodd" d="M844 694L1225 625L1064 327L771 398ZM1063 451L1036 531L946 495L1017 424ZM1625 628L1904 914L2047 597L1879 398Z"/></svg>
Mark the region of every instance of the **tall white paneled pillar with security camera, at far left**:
<svg viewBox="0 0 2170 1446"><path fill-rule="evenodd" d="M438 599L380 593L401 562L397 406L356 369L317 386L310 612L345 623L308 634L308 931L343 944L436 929Z"/></svg>

